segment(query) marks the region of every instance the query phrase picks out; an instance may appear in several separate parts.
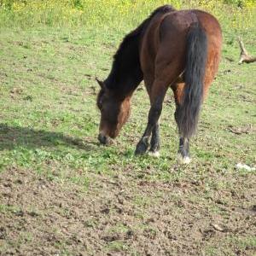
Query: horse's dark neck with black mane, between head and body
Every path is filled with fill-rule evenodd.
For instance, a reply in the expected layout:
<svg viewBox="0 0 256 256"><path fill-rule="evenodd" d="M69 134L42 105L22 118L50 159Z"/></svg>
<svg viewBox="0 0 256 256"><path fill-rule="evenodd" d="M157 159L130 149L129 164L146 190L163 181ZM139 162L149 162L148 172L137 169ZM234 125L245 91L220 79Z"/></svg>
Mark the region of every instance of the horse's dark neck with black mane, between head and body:
<svg viewBox="0 0 256 256"><path fill-rule="evenodd" d="M173 10L171 5L160 6L140 26L125 36L113 56L112 70L108 79L104 81L109 90L113 90L121 96L127 96L136 89L137 85L143 80L139 58L140 39L154 15L166 14Z"/></svg>

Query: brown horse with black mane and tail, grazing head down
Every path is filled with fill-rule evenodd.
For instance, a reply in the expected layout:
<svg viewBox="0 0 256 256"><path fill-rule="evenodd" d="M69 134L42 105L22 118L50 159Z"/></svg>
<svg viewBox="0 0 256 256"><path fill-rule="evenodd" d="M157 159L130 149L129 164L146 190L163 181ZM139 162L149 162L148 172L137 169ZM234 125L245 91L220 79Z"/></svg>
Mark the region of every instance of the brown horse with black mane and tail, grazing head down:
<svg viewBox="0 0 256 256"><path fill-rule="evenodd" d="M144 80L151 108L135 153L147 151L152 135L149 152L159 154L159 118L166 90L171 87L180 135L178 155L188 163L189 138L195 133L201 103L217 73L221 44L221 29L212 15L196 9L177 11L170 5L155 9L125 36L108 78L97 80L101 86L97 97L100 143L108 144L118 136L131 112L131 96Z"/></svg>

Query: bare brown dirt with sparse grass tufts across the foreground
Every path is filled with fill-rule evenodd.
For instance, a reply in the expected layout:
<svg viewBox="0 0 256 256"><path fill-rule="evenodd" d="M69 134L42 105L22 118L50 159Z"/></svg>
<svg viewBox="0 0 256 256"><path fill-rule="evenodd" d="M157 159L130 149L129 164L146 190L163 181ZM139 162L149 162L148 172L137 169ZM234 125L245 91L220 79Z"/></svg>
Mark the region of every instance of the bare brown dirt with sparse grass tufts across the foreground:
<svg viewBox="0 0 256 256"><path fill-rule="evenodd" d="M204 182L153 182L128 170L99 175L84 192L10 169L0 176L0 254L253 255L255 180L212 177L225 178L233 186L207 192Z"/></svg>

